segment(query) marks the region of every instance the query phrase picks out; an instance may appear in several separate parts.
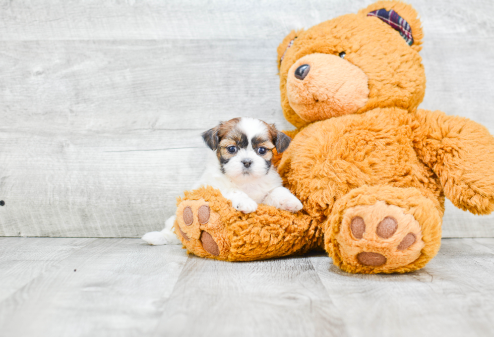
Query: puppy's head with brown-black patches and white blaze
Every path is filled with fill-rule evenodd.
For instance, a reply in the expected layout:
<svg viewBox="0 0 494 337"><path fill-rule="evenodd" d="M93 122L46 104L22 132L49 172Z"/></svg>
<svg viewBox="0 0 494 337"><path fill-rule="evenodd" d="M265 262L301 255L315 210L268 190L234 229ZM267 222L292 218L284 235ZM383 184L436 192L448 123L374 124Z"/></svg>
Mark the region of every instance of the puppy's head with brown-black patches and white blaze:
<svg viewBox="0 0 494 337"><path fill-rule="evenodd" d="M290 137L274 125L253 118L234 118L203 133L216 150L221 172L233 179L259 178L271 169L272 150L283 152Z"/></svg>

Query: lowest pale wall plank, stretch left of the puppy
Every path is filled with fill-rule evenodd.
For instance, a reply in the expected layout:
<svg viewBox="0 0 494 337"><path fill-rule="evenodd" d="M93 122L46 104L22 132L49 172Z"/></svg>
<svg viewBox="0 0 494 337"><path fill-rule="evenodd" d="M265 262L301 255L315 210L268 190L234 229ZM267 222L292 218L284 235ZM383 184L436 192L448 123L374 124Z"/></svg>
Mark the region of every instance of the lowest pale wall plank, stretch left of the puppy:
<svg viewBox="0 0 494 337"><path fill-rule="evenodd" d="M17 163L4 166L0 233L8 236L140 237L158 230L175 212L175 196L199 178L206 151L196 131L0 137L0 159Z"/></svg>

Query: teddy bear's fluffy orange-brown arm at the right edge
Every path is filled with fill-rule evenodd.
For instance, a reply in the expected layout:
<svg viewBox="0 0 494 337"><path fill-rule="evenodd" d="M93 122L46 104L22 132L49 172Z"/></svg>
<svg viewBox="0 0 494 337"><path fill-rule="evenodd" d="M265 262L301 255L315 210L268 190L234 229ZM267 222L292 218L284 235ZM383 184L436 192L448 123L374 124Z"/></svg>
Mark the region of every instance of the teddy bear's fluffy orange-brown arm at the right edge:
<svg viewBox="0 0 494 337"><path fill-rule="evenodd" d="M467 118L417 110L413 144L453 204L474 214L494 210L494 137Z"/></svg>

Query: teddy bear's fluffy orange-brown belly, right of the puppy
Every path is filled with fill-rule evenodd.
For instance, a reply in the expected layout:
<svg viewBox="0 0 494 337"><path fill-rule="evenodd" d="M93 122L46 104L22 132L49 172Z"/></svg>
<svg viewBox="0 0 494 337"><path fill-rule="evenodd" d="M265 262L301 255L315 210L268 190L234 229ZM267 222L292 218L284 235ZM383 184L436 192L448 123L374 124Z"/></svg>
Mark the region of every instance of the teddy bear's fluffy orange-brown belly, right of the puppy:
<svg viewBox="0 0 494 337"><path fill-rule="evenodd" d="M415 187L439 200L438 178L418 159L410 123L407 111L397 108L313 123L294 137L280 174L311 213L363 185Z"/></svg>

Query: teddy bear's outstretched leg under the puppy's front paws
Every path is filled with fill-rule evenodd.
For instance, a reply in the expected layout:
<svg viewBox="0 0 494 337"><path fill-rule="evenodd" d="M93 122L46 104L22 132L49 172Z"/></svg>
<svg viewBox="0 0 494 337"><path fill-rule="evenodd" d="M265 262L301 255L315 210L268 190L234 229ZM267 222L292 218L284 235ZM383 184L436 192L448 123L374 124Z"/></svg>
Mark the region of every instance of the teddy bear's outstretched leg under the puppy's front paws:
<svg viewBox="0 0 494 337"><path fill-rule="evenodd" d="M307 214L262 204L244 214L211 187L186 192L174 226L190 253L220 260L263 260L322 245L321 223Z"/></svg>

